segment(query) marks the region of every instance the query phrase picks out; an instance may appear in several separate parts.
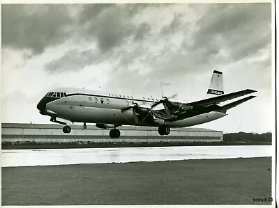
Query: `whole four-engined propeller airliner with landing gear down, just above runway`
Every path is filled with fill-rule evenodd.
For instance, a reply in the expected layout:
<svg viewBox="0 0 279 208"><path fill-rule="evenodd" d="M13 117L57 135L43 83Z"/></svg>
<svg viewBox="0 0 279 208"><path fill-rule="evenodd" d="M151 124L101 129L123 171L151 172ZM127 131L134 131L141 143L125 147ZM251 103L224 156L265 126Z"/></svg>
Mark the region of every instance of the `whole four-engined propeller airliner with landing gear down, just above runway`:
<svg viewBox="0 0 279 208"><path fill-rule="evenodd" d="M223 106L221 102L255 93L255 90L241 90L224 94L223 73L213 71L207 95L196 102L171 101L172 97L133 97L100 93L77 88L50 90L37 105L42 115L50 116L52 122L63 125L63 133L71 127L70 122L96 123L96 127L110 129L111 138L119 138L121 125L158 127L158 133L168 135L170 128L190 127L210 122L227 115L227 111L255 96L250 95ZM173 96L174 97L174 96ZM158 108L162 106L161 108Z"/></svg>

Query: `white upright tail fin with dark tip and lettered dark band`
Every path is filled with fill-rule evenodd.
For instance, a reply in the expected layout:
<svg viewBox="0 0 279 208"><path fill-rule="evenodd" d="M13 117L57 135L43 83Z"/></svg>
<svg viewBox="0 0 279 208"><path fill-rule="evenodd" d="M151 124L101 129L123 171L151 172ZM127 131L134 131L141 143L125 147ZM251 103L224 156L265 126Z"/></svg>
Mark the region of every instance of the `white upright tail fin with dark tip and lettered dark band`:
<svg viewBox="0 0 279 208"><path fill-rule="evenodd" d="M207 90L207 95L211 97L211 95L223 95L224 94L224 88L223 88L223 73L214 70L209 90Z"/></svg>

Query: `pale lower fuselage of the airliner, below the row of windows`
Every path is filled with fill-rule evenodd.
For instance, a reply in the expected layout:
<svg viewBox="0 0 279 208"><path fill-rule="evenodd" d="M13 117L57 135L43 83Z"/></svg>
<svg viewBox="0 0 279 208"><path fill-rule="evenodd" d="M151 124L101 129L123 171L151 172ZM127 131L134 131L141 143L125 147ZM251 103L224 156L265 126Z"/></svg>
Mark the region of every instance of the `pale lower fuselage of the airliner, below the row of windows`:
<svg viewBox="0 0 279 208"><path fill-rule="evenodd" d="M66 104L50 103L47 104L47 109L57 113L57 118L63 118L72 122L88 122L88 123L104 123L112 125L141 125L153 126L154 123L136 123L133 111L121 112L120 109L98 108L96 106L72 106ZM199 125L211 120L222 118L227 114L213 111L210 113L203 113L183 120L167 123L169 127L190 127Z"/></svg>

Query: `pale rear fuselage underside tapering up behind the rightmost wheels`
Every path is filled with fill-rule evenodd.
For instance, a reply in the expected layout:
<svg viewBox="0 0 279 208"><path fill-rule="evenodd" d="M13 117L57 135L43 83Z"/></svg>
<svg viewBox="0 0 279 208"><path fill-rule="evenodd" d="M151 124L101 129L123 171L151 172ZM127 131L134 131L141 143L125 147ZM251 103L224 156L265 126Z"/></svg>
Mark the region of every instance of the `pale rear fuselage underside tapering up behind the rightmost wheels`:
<svg viewBox="0 0 279 208"><path fill-rule="evenodd" d="M199 125L199 124L202 124L205 122L209 122L211 120L216 120L218 118L222 118L225 115L227 115L227 114L213 111L210 113L203 113L200 115L195 115L193 117L186 118L183 120L170 122L167 125L169 127L190 127L190 126Z"/></svg>

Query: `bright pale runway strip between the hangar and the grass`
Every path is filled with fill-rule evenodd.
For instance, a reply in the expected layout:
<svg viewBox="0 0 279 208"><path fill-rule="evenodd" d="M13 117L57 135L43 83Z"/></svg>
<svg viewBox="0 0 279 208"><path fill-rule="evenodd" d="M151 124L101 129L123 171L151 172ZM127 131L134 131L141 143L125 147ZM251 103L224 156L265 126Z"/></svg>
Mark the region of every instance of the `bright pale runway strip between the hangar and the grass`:
<svg viewBox="0 0 279 208"><path fill-rule="evenodd" d="M271 157L271 145L2 150L2 167Z"/></svg>

